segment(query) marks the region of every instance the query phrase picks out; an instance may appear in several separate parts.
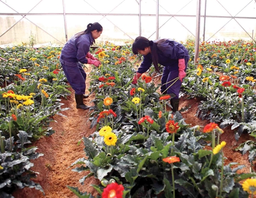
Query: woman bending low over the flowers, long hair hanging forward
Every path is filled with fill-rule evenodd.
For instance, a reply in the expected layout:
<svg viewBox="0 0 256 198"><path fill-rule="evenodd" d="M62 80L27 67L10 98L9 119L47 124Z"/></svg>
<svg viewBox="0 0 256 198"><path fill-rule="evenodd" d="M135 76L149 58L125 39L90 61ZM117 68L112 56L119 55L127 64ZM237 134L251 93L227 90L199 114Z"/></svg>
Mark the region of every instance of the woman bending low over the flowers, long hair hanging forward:
<svg viewBox="0 0 256 198"><path fill-rule="evenodd" d="M158 72L158 63L163 65L161 93L167 93L171 96L170 104L172 105L172 110L173 112L178 111L180 87L182 79L186 76L185 70L189 60L187 49L181 43L172 39L150 41L145 37L139 36L133 43L133 53L142 54L143 61L138 68L132 83L137 84L142 73L146 72L151 67L152 62ZM178 81L172 81L177 77L179 77Z"/></svg>

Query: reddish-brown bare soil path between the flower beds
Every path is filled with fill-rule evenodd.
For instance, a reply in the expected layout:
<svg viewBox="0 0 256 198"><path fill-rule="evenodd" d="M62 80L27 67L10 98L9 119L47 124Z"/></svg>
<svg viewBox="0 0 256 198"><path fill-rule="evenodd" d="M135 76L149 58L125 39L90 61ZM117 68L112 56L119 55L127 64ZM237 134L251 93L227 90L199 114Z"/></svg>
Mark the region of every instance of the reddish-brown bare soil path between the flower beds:
<svg viewBox="0 0 256 198"><path fill-rule="evenodd" d="M86 70L87 73L90 72ZM89 80L87 79L87 88L89 87ZM158 84L159 78L154 79L155 84ZM70 89L71 90L71 89ZM77 142L83 137L88 137L95 131L95 128L90 129L89 119L89 110L76 109L76 103L74 100L74 91L72 91L71 96L68 97L68 100L62 99L64 104L62 108L70 108L67 111L61 112L67 117L62 117L55 115L53 118L55 122L51 122L51 127L55 130L55 133L47 138L41 138L35 142L35 146L38 147L37 152L44 154L44 156L33 160L34 163L33 170L39 172L38 177L34 180L38 182L45 191L46 196L35 189L21 189L13 193L15 198L58 198L58 197L77 197L72 193L67 186L78 187L80 191L88 191L96 193L96 191L91 187L91 184L96 184L97 181L95 178L91 177L86 180L86 183L82 186L79 183L84 175L87 175L86 172L78 174L77 172L71 171L72 168L69 166L79 158L85 157L83 151L83 143L79 146ZM90 101L94 98L94 95L90 95L89 98L84 100L84 103L87 105L93 105ZM182 116L185 119L185 122L191 124L191 126L202 126L203 127L209 123L208 120L198 119L195 114L197 112L199 102L191 99L182 97L180 100L180 108L190 107L188 111L183 112ZM224 155L227 158L225 164L230 162L238 162L240 165L243 164L246 167L243 168L240 172L249 172L250 164L248 162L248 155L242 156L239 152L234 152L233 149L236 148L240 143L250 139L251 137L248 134L243 134L239 142L234 139L233 132L229 129L224 129L224 134L221 136L221 141L226 141L227 145L224 149ZM88 171L89 173L89 171Z"/></svg>

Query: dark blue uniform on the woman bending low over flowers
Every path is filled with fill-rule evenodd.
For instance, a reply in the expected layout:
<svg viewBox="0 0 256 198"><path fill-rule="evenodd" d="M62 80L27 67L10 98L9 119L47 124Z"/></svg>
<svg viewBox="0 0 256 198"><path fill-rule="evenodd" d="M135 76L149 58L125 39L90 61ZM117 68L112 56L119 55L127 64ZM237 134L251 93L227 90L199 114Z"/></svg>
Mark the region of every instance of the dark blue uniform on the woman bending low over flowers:
<svg viewBox="0 0 256 198"><path fill-rule="evenodd" d="M155 40L154 42L156 43ZM187 62L189 60L188 51L187 49L179 42L176 42L172 39L166 39L162 43L157 44L157 54L158 54L158 63L163 65L163 76L161 78L161 92L167 89L171 84L175 81L175 78L179 77L179 67L178 67L178 60L185 59L185 65L187 68ZM143 56L143 61L138 68L138 73L146 72L152 65L152 55L148 53L146 56ZM186 70L186 69L185 69ZM167 83L172 81L170 83ZM166 85L163 85L167 83ZM179 98L179 92L181 87L181 81L176 81L170 88L168 88L167 93L171 94L174 93L176 97L172 97L174 99Z"/></svg>

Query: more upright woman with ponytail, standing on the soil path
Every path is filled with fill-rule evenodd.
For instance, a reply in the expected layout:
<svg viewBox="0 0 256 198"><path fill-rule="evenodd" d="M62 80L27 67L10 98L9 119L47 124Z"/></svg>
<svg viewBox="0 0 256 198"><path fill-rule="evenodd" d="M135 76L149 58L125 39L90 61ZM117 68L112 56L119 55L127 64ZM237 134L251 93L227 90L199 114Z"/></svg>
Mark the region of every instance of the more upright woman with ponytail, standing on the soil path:
<svg viewBox="0 0 256 198"><path fill-rule="evenodd" d="M60 54L60 63L71 87L75 90L75 100L77 109L89 109L89 106L83 104L83 98L86 91L86 72L82 64L93 64L96 67L100 61L90 54L90 46L95 43L103 29L98 23L89 23L85 31L72 36L63 46Z"/></svg>

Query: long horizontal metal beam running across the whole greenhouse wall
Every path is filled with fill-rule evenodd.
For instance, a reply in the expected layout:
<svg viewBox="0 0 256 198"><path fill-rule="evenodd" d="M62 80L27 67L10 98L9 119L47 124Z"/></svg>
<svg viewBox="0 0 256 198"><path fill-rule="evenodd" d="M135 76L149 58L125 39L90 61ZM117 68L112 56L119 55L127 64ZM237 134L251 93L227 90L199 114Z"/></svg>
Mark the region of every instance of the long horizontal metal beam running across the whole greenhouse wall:
<svg viewBox="0 0 256 198"><path fill-rule="evenodd" d="M0 0L1 1L1 0ZM0 13L0 15L63 15L63 13ZM66 13L66 15L106 15L106 16L139 16L139 14L108 14L108 13ZM141 16L156 16L156 14L141 14ZM196 15L182 15L182 14L159 14L159 16L172 17L196 17ZM204 17L201 15L200 17ZM206 15L208 18L239 18L239 19L256 19L256 17L246 16L214 16Z"/></svg>

